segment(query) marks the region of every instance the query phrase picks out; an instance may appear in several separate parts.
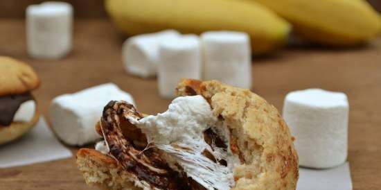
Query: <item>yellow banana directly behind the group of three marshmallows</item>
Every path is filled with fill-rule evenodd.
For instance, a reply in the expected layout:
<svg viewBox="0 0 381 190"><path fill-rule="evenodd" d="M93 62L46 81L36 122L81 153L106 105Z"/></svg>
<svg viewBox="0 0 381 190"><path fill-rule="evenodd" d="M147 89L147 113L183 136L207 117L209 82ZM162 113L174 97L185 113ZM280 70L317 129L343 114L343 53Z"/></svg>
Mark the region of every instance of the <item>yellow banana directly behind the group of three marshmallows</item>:
<svg viewBox="0 0 381 190"><path fill-rule="evenodd" d="M287 41L291 26L255 2L236 0L107 0L105 7L127 35L173 28L181 33L243 31L254 54L267 53Z"/></svg>

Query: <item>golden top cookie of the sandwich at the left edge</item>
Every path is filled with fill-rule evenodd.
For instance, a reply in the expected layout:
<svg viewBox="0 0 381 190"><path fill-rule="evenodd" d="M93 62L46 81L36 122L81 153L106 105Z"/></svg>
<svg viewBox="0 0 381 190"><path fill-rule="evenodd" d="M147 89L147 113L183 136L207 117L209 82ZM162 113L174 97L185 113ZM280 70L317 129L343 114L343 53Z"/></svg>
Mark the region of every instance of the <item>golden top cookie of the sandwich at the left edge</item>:
<svg viewBox="0 0 381 190"><path fill-rule="evenodd" d="M22 94L39 86L39 78L28 64L0 56L0 96Z"/></svg>

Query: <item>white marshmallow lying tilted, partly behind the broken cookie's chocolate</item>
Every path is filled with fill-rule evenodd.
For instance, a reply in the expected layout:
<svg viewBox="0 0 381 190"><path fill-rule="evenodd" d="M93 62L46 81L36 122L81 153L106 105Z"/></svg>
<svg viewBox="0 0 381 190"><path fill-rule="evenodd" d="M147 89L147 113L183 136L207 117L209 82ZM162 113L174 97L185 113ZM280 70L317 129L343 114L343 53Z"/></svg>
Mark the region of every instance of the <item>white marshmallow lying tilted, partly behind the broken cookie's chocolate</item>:
<svg viewBox="0 0 381 190"><path fill-rule="evenodd" d="M134 104L130 94L112 83L57 96L49 108L55 133L69 145L82 146L96 141L100 135L96 133L94 126L109 101L127 101Z"/></svg>

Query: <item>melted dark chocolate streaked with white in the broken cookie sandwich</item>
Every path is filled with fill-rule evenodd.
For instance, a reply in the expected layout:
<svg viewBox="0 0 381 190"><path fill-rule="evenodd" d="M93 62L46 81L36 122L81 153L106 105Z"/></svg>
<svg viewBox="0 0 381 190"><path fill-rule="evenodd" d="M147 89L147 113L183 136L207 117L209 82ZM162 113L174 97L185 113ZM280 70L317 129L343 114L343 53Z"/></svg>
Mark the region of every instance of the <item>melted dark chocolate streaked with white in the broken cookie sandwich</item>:
<svg viewBox="0 0 381 190"><path fill-rule="evenodd" d="M153 146L139 150L141 148L136 142L147 144L146 139L139 137L143 134L137 129L130 130L132 134L122 130L125 128L123 123L127 122L123 117L126 114L136 119L142 118L134 107L127 103L111 101L103 110L100 127L110 148L110 155L118 160L126 171L133 173L136 178L147 182L151 187L168 190L193 189L191 179L188 179L185 173L171 169L166 160L161 158L159 149Z"/></svg>

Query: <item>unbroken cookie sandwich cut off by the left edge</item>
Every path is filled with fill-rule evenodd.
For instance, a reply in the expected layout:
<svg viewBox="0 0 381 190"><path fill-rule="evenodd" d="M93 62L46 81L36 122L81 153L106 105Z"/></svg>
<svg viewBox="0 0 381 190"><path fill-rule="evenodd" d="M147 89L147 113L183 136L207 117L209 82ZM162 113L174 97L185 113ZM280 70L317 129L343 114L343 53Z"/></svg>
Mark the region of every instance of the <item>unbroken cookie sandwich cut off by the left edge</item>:
<svg viewBox="0 0 381 190"><path fill-rule="evenodd" d="M17 139L39 118L31 91L39 78L28 64L0 56L0 144Z"/></svg>

